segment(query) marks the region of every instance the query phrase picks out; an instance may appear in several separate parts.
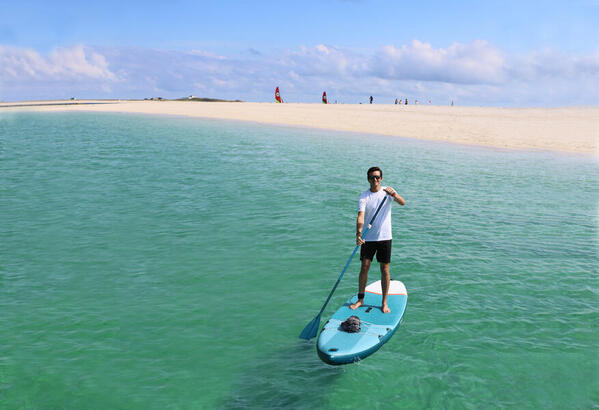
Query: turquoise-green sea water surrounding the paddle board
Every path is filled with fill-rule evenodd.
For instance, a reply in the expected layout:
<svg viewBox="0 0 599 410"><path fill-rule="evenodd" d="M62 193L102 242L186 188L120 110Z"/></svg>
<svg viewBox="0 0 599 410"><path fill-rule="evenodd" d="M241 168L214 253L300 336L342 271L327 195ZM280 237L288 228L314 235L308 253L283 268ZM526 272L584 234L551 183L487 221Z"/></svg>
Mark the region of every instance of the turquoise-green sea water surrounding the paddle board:
<svg viewBox="0 0 599 410"><path fill-rule="evenodd" d="M371 165L407 199L408 308L379 352L331 367L298 335ZM598 407L598 175L556 153L0 113L0 407Z"/></svg>

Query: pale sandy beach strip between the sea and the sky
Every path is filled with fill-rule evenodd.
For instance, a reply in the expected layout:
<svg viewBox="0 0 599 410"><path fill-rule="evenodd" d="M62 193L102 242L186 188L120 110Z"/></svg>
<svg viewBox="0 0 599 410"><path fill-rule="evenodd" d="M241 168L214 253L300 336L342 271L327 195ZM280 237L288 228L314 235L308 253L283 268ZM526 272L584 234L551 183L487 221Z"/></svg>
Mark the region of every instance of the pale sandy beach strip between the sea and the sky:
<svg viewBox="0 0 599 410"><path fill-rule="evenodd" d="M184 115L599 156L599 107L495 108L105 100L0 103L0 113L25 110Z"/></svg>

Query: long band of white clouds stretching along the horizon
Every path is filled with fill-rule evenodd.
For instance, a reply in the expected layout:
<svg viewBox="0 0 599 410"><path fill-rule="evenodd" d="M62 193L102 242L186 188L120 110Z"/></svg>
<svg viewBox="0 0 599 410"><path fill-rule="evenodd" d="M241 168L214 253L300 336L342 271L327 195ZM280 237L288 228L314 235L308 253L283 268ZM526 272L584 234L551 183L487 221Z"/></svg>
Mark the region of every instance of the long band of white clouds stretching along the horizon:
<svg viewBox="0 0 599 410"><path fill-rule="evenodd" d="M355 103L397 98L475 105L599 104L599 52L510 54L485 41L436 48L414 40L372 51L318 44L222 56L143 48L72 47L41 55L0 46L0 99L205 97Z"/></svg>

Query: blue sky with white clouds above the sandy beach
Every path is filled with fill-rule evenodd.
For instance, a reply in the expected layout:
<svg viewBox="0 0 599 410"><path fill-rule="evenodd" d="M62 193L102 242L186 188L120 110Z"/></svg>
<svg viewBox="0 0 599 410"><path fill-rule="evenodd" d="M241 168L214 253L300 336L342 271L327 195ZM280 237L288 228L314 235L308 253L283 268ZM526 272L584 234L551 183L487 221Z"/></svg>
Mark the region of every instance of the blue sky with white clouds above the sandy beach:
<svg viewBox="0 0 599 410"><path fill-rule="evenodd" d="M599 0L0 3L0 101L599 105Z"/></svg>

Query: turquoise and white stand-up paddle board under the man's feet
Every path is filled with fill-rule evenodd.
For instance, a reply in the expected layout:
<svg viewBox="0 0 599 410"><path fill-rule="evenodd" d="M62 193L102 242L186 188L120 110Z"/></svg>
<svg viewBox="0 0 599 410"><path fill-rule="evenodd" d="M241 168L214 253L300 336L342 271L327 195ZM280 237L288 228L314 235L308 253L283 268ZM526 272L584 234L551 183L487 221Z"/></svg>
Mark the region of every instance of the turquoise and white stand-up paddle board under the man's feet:
<svg viewBox="0 0 599 410"><path fill-rule="evenodd" d="M391 281L387 296L390 313L381 310L382 298L379 280L366 287L362 306L356 310L349 308L357 302L357 294L341 306L318 336L318 356L328 364L339 365L357 362L379 350L398 328L408 303L408 292L402 282ZM360 318L360 332L348 333L341 328L341 323L350 316Z"/></svg>

